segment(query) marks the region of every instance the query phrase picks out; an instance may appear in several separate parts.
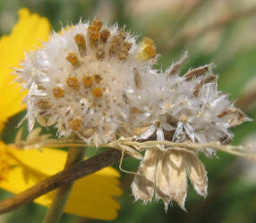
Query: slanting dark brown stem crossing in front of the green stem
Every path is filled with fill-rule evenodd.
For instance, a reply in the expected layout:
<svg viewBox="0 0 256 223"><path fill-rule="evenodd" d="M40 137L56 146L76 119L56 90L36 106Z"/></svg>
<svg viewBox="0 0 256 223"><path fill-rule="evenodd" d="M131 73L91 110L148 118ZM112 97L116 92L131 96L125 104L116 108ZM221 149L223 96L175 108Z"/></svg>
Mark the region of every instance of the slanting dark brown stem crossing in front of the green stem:
<svg viewBox="0 0 256 223"><path fill-rule="evenodd" d="M124 154L125 157L127 155ZM118 150L108 149L98 155L86 160L81 161L68 169L64 169L55 175L44 179L35 186L23 191L21 194L16 194L11 198L7 198L0 202L0 214L14 211L21 206L32 202L39 196L47 194L48 192L56 189L59 186L64 186L73 180L84 178L90 174L104 169L107 166L115 164L120 161L122 153Z"/></svg>

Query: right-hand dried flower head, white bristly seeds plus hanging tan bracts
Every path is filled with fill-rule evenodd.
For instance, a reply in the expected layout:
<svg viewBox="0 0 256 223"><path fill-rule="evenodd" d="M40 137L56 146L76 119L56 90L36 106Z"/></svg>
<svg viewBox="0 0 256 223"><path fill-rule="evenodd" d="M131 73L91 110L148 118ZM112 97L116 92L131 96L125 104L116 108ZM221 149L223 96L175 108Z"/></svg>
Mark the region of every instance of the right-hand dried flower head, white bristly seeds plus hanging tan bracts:
<svg viewBox="0 0 256 223"><path fill-rule="evenodd" d="M228 128L249 119L218 90L217 76L213 74L211 64L180 76L180 67L186 57L184 54L162 76L150 76L148 82L142 79L141 83L150 86L143 88L151 89L157 98L153 103L145 103L143 112L136 114L150 113L147 119L134 117L131 120L134 126L144 127L131 131L140 140L228 144L233 137ZM154 87L156 83L158 88ZM158 104L155 109L154 104ZM148 128L145 127L147 123ZM201 151L210 156L215 149L209 147ZM166 209L171 201L184 209L187 176L197 193L206 196L207 173L196 151L186 147L177 150L164 145L151 146L132 182L132 194L136 200L144 202L151 201L155 194L157 199L163 200Z"/></svg>

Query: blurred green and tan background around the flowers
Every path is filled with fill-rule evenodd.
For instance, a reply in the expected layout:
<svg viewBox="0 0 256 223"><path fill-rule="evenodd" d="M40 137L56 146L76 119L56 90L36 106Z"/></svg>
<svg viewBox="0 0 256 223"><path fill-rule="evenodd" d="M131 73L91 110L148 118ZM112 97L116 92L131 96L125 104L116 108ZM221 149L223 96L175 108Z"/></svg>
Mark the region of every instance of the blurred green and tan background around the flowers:
<svg viewBox="0 0 256 223"><path fill-rule="evenodd" d="M118 22L134 35L155 40L161 54L158 69L165 70L185 50L187 70L214 62L218 83L237 106L256 119L256 0L1 0L0 35L8 34L17 21L17 11L27 7L46 16L52 28L75 24L95 16L110 24ZM21 115L13 117L4 129L4 139L12 142L13 128ZM12 134L10 134L12 130ZM256 122L235 128L234 144L251 143L256 150ZM255 151L254 150L254 151ZM256 151L255 151L256 152ZM91 154L90 154L91 155ZM203 199L189 186L187 212L175 203L166 212L161 202L144 205L134 202L132 175L122 173L124 195L113 222L256 222L256 163L218 153L208 159L201 155L209 175L209 195ZM136 169L137 161L124 161L125 169ZM0 198L11 194L0 191ZM46 208L30 203L0 216L0 222L41 222ZM64 222L102 222L64 214Z"/></svg>

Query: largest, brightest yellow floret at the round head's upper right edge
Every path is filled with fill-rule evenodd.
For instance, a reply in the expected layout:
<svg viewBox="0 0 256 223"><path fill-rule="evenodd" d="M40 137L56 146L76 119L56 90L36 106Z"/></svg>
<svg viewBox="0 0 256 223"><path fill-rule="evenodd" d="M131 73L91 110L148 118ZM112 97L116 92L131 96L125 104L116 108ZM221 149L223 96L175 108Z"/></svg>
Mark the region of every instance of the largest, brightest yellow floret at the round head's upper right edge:
<svg viewBox="0 0 256 223"><path fill-rule="evenodd" d="M140 52L136 58L141 60L149 60L157 55L157 49L154 41L149 37L144 37L141 45Z"/></svg>

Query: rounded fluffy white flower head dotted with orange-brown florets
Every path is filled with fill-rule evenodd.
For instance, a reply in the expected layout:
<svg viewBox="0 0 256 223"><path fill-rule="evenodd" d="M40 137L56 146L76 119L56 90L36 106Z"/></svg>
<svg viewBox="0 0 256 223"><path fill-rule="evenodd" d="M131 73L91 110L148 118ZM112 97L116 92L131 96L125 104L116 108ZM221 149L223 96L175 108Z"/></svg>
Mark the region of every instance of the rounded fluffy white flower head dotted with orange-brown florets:
<svg viewBox="0 0 256 223"><path fill-rule="evenodd" d="M55 125L59 136L75 132L95 145L114 140L120 123L129 119L134 70L147 75L155 58L152 40L137 45L124 29L98 20L54 33L17 70L29 89L29 129L36 119L42 126Z"/></svg>

